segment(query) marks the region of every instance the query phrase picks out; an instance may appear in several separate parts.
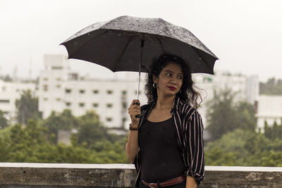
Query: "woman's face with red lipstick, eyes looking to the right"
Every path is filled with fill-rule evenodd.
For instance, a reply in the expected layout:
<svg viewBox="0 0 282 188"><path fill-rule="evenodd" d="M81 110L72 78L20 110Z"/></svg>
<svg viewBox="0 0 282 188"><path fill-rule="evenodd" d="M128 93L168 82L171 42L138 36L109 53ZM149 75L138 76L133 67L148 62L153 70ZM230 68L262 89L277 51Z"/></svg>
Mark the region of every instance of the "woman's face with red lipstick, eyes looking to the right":
<svg viewBox="0 0 282 188"><path fill-rule="evenodd" d="M177 63L168 63L159 77L153 76L153 81L155 84L158 84L157 94L163 95L176 95L183 84L183 72L182 68Z"/></svg>

